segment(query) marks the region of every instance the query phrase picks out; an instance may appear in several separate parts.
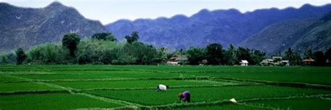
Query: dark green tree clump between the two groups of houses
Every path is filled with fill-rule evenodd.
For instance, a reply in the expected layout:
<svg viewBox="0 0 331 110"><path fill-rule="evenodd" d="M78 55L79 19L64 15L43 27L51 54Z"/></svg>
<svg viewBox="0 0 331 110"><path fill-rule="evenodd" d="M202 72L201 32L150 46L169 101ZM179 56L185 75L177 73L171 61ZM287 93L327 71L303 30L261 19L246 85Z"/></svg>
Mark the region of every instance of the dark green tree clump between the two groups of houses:
<svg viewBox="0 0 331 110"><path fill-rule="evenodd" d="M189 64L198 65L206 61L208 65L237 65L241 60L247 60L251 65L257 65L265 58L265 52L230 45L223 49L222 45L212 43L205 48L191 47L186 51Z"/></svg>

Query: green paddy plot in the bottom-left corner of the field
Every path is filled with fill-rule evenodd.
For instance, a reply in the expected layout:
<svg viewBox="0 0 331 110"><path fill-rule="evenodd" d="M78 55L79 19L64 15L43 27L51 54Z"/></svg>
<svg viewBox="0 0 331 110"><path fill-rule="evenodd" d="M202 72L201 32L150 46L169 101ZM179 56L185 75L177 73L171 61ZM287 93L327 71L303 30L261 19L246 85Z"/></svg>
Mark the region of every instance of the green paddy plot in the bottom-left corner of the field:
<svg viewBox="0 0 331 110"><path fill-rule="evenodd" d="M2 95L0 108L6 109L82 109L82 108L110 108L121 105L95 100L83 95L66 93L42 95Z"/></svg>

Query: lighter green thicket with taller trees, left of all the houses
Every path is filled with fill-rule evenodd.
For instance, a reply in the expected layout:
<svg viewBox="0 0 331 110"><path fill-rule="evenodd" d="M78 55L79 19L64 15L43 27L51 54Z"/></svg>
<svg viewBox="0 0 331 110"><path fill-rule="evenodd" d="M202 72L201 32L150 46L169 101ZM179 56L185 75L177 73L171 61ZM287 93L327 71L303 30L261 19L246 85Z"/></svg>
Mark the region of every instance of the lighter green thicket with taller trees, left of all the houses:
<svg viewBox="0 0 331 110"><path fill-rule="evenodd" d="M19 48L2 55L0 63L152 65L168 60L164 49L138 42L138 32L125 38L126 42L117 42L112 33L96 33L82 40L76 33L67 33L61 44L37 45L28 52Z"/></svg>

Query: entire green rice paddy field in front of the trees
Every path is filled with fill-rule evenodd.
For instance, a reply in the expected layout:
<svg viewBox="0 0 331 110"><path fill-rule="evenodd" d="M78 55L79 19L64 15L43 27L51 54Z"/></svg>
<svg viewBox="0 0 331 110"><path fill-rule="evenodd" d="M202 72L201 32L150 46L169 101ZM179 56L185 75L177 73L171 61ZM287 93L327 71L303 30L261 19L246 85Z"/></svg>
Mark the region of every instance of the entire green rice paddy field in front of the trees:
<svg viewBox="0 0 331 110"><path fill-rule="evenodd" d="M331 68L0 65L0 109L330 110Z"/></svg>

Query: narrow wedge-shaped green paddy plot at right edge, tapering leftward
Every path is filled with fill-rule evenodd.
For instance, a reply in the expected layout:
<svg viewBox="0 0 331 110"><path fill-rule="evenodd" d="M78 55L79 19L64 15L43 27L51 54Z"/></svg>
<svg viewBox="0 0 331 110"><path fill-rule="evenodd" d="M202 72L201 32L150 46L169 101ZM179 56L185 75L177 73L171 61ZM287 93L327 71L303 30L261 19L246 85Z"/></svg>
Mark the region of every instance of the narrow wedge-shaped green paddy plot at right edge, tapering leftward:
<svg viewBox="0 0 331 110"><path fill-rule="evenodd" d="M284 81L299 82L309 84L331 85L331 72L328 73L311 73L311 72L191 72L189 75L220 77L230 79L244 80L263 80L263 81Z"/></svg>

